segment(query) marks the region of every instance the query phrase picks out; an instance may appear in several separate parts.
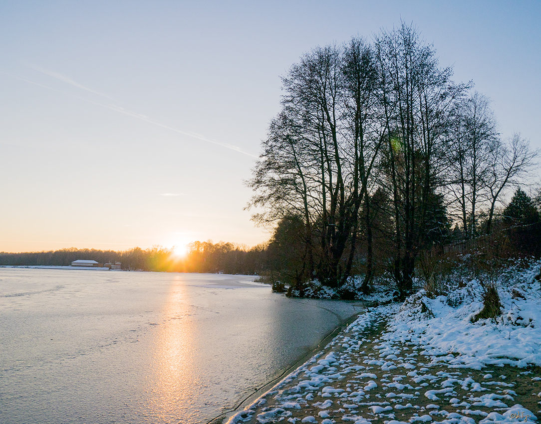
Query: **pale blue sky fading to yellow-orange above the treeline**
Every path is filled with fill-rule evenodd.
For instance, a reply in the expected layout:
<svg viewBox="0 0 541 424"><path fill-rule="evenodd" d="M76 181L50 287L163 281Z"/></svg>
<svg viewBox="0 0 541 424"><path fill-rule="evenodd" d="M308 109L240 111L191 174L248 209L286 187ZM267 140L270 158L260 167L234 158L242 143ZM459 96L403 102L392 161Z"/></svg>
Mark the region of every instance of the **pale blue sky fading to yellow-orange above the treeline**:
<svg viewBox="0 0 541 424"><path fill-rule="evenodd" d="M281 76L412 23L506 138L541 148L541 2L0 0L0 251L254 246Z"/></svg>

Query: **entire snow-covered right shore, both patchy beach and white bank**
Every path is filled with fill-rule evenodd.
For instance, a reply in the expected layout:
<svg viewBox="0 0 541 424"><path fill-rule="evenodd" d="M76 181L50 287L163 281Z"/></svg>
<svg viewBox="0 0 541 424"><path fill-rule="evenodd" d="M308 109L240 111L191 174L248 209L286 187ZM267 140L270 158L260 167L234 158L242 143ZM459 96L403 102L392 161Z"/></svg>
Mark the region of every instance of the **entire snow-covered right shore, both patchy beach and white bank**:
<svg viewBox="0 0 541 424"><path fill-rule="evenodd" d="M540 265L501 271L497 318L472 322L483 308L476 279L367 310L229 423L536 422Z"/></svg>

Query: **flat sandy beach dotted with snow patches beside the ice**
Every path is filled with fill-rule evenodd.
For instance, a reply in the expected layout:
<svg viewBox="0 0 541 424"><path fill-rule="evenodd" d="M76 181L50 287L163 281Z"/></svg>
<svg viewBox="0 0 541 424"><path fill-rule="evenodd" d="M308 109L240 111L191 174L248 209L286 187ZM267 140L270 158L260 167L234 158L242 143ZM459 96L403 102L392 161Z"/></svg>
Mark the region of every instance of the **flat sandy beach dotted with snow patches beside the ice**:
<svg viewBox="0 0 541 424"><path fill-rule="evenodd" d="M541 367L468 368L415 332L397 336L389 326L397 313L369 309L228 424L537 421Z"/></svg>

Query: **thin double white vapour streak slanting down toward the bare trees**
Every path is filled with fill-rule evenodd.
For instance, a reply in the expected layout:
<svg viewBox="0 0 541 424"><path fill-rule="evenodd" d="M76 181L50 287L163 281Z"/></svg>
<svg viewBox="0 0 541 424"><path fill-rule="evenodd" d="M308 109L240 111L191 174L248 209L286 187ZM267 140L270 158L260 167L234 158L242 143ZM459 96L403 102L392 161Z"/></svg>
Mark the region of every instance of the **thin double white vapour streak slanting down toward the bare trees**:
<svg viewBox="0 0 541 424"><path fill-rule="evenodd" d="M11 77L13 77L13 78L21 79L21 81L25 81L25 82L30 83L30 84L39 85L39 87L47 88L47 89L52 90L52 91L61 92L62 94L66 94L66 95L68 95L68 96L78 98L79 100L82 100L82 101L84 101L84 102L88 102L88 103L95 104L95 105L100 106L100 107L105 108L105 109L109 109L109 110L114 110L114 111L116 111L116 112L120 112L121 114L128 115L128 116L137 118L138 120L141 120L141 121L144 121L144 122L148 122L149 124L156 125L156 127L165 128L165 129L167 129L167 130L177 132L178 134L186 135L186 136L188 136L188 137L196 138L197 140L206 141L207 143L216 144L216 145L219 145L219 146L224 147L224 148L226 148L226 149L230 149L230 150L237 151L237 152L239 152L239 153L242 153L243 155L247 155L247 156L250 156L250 157L258 158L258 156L253 155L253 154L251 154L251 153L248 153L247 151L244 151L244 150L242 150L240 147L237 147L237 146L235 146L235 145L233 145L233 144L223 143L223 142L219 142L219 141L216 141L216 140L212 140L211 138L204 137L204 136L202 136L201 134L197 134L196 132L188 132L188 131L183 131L183 130L179 130L179 129L177 129L177 128L170 127L169 125L165 125L165 124L162 124L161 122L155 121L155 120L149 118L149 117L146 116L146 115L138 114L137 112L133 112L133 111L124 109L124 108L122 108L122 107L120 107L120 106L117 106L117 105L107 105L107 104L102 104L102 103L94 102L94 101L92 101L92 100L88 100L87 98L84 98L84 97L81 97L81 96L77 96L77 95L75 95L75 94L71 94L71 93L69 93L69 92L67 92L67 91L62 91L62 90L58 90L58 89L56 89L56 88L48 87L47 85L44 85L44 84L40 84L40 83L31 81L30 79L27 79L27 78L24 78L24 77L19 77L19 76L16 76L16 75L5 74L5 72L2 72L2 73L3 73L4 75L9 75L9 76L11 76ZM44 72L44 73L45 73L45 72ZM50 75L50 74L47 74L47 75ZM60 75L60 74L58 74L58 75ZM66 77L66 78L67 78L67 77ZM65 80L62 79L62 78L58 78L58 79L61 79L61 81L67 82L67 81L65 81ZM99 94L99 95L102 95L102 96L105 96L105 97L109 98L110 100L113 100L111 97L109 97L109 96L107 96L107 95L104 95L104 94L101 94L101 93L99 93L99 92L97 92L97 91L93 91L93 90L87 89L87 88L85 88L85 87L83 87L83 86L80 86L80 84L77 84L75 81L71 80L70 78L67 78L67 79L68 79L69 81L72 81L73 84L72 84L72 83L69 83L69 84L75 85L75 87L82 88L82 89L84 89L84 90L94 92L95 94Z"/></svg>

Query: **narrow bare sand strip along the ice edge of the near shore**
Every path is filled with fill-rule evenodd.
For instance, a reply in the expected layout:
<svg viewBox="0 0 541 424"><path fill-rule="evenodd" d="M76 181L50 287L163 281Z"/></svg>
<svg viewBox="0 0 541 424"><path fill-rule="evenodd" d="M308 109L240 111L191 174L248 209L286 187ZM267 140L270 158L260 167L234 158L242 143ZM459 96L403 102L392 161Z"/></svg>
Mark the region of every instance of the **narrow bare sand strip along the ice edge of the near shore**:
<svg viewBox="0 0 541 424"><path fill-rule="evenodd" d="M305 363L323 354L325 350L328 348L329 343L331 343L337 336L339 336L342 332L344 332L344 330L347 327L349 327L353 322L355 322L359 318L359 316L367 312L368 302L365 302L365 301L355 301L355 302L364 303L362 304L363 309L360 312L355 313L354 315L350 316L348 319L342 321L330 333L325 335L323 339L320 340L320 342L318 343L316 347L314 347L308 353L300 357L300 359L298 359L295 363L293 363L293 365L289 366L285 370L282 370L280 375L278 375L271 381L266 382L263 386L255 390L252 394L246 396L246 398L244 398L239 403L237 403L237 405L234 408L228 409L222 412L220 415L215 416L213 419L206 421L206 424L222 424L222 423L229 422L229 420L231 420L243 408L246 408L248 405L252 405L252 403L254 403L259 398L266 396L274 386L280 384L282 380L287 379L289 375L295 373L296 370L304 366Z"/></svg>

